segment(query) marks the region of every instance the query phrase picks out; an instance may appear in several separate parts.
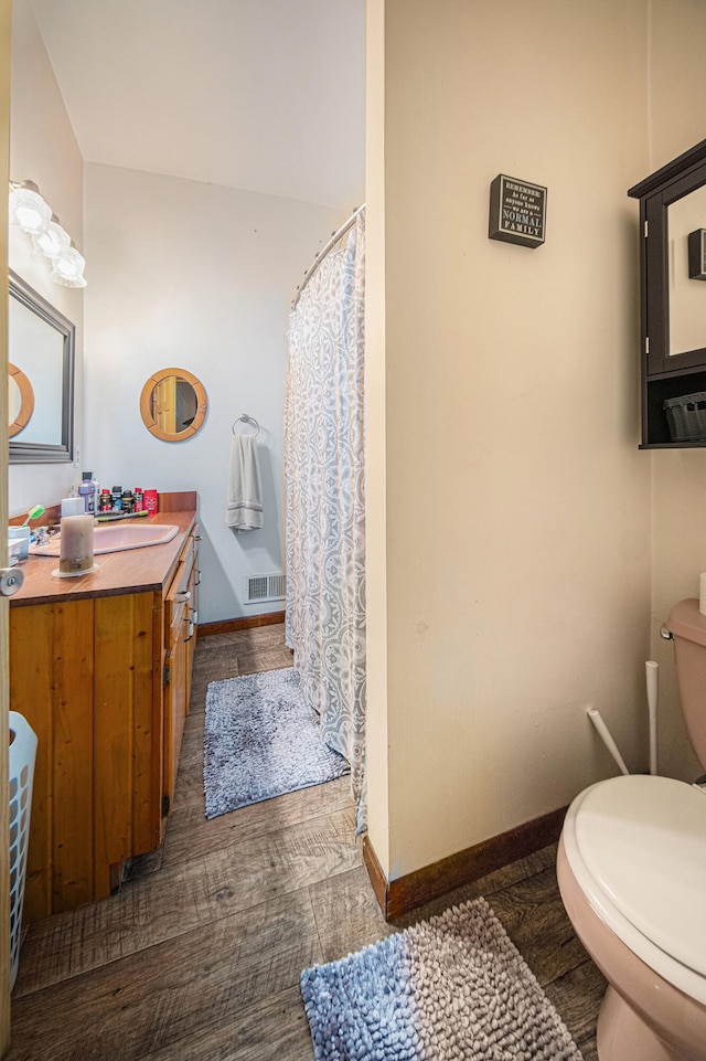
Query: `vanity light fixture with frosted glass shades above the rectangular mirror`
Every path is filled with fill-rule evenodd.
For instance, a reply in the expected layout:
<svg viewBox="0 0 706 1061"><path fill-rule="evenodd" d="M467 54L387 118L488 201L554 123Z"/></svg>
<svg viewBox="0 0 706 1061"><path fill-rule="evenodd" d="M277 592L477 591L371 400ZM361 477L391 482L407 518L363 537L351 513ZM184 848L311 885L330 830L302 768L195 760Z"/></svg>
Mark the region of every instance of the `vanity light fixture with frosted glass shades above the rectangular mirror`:
<svg viewBox="0 0 706 1061"><path fill-rule="evenodd" d="M64 287L86 286L86 261L34 181L10 181L10 224L31 235L35 248L50 259L50 279Z"/></svg>

